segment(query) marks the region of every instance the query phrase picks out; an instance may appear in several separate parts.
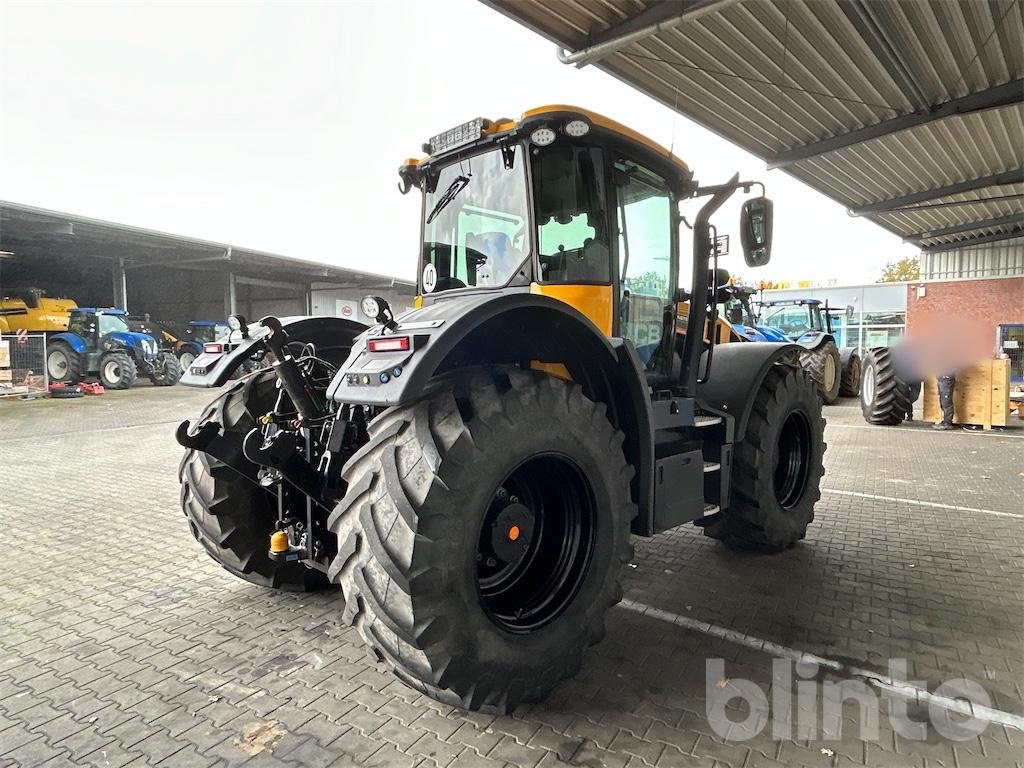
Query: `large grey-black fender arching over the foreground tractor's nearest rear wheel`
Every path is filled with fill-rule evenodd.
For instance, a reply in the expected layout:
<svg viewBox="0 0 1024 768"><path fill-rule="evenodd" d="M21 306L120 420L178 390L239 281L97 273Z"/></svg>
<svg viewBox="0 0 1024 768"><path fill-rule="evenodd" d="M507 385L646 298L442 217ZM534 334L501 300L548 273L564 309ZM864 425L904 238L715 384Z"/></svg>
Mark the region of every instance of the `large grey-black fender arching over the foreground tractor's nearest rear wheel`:
<svg viewBox="0 0 1024 768"><path fill-rule="evenodd" d="M529 367L557 362L625 434L633 465L639 520L651 504L653 437L643 367L633 345L607 339L584 314L556 299L526 292L487 292L444 298L398 318L383 334L375 326L358 337L328 389L339 402L404 406L420 399L439 374L481 366ZM367 342L406 336L409 351L370 352ZM395 375L397 372L397 375ZM641 532L641 531L638 531Z"/></svg>

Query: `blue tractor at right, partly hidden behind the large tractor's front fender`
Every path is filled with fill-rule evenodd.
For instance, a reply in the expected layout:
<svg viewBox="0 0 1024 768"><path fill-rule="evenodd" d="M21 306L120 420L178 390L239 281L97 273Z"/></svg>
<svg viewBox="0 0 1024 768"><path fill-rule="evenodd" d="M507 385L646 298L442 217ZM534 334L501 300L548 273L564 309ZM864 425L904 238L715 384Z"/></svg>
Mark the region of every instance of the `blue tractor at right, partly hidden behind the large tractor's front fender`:
<svg viewBox="0 0 1024 768"><path fill-rule="evenodd" d="M757 328L767 340L792 341L804 348L801 365L817 382L826 404L841 394L855 397L860 392L860 353L856 347L837 345L831 328L835 307L818 299L762 300L757 307Z"/></svg>

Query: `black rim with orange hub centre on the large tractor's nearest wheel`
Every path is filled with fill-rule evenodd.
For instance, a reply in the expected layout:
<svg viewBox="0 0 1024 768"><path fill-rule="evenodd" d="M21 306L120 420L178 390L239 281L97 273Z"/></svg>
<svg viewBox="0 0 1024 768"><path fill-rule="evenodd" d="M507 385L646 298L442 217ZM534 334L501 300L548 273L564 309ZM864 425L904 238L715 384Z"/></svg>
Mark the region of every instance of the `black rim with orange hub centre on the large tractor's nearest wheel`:
<svg viewBox="0 0 1024 768"><path fill-rule="evenodd" d="M594 551L597 509L574 462L541 454L496 488L476 550L476 587L490 620L515 634L554 621L579 594Z"/></svg>

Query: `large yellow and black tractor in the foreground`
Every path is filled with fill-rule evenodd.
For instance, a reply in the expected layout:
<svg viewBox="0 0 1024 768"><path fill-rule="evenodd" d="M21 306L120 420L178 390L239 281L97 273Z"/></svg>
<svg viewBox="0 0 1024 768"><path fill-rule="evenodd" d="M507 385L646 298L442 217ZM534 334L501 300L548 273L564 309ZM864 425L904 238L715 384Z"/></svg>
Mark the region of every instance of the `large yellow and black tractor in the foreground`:
<svg viewBox="0 0 1024 768"><path fill-rule="evenodd" d="M183 383L271 366L179 425L181 500L229 571L340 586L399 679L502 711L580 668L631 536L802 539L821 401L799 346L721 343L711 216L757 182L701 186L664 147L564 105L425 148L399 169L422 194L416 308L367 297L371 328L231 317L231 351ZM771 220L763 196L744 202L749 266L768 261Z"/></svg>

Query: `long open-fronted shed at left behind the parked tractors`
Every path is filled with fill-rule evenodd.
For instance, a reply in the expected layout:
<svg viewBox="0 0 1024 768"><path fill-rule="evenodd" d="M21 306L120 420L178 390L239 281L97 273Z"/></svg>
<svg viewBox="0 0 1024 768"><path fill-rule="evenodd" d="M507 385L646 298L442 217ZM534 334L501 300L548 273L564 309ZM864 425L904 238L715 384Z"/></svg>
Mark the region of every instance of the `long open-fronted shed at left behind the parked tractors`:
<svg viewBox="0 0 1024 768"><path fill-rule="evenodd" d="M29 287L181 323L233 313L353 316L368 293L403 307L416 292L381 274L0 202L0 294Z"/></svg>

